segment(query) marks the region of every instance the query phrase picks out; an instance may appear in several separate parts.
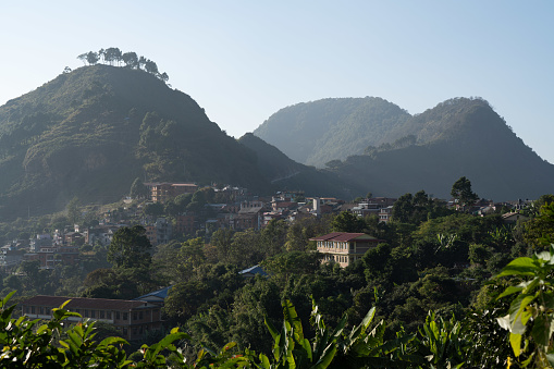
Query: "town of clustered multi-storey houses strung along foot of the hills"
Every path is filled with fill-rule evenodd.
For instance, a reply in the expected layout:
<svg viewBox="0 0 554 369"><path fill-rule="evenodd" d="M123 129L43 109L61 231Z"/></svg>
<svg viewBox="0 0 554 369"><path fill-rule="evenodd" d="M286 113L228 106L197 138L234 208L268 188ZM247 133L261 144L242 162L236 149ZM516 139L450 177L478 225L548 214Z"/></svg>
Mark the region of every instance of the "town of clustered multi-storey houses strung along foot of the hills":
<svg viewBox="0 0 554 369"><path fill-rule="evenodd" d="M213 232L221 229L259 231L272 220L291 223L303 218L336 216L343 211L359 218L377 216L380 222L386 223L392 217L396 201L396 198L371 197L346 202L332 197L305 197L301 192L279 192L271 197L259 197L249 194L247 188L234 186L200 188L194 183L145 183L145 186L148 187L148 199L145 201L124 199L123 207L100 213L98 225L83 227L74 224L63 230L56 230L52 234L36 234L29 239L14 239L3 245L0 268L4 272L14 272L24 260L38 260L41 269L78 266L83 249L95 245L107 247L118 229L134 224L146 229L146 235L152 246L168 244L172 239L196 236L202 236L206 243L209 243ZM173 217L156 216L145 211L145 207L167 205L180 195L193 195L198 189L212 192L216 195L214 198L229 199L229 201L207 202L197 210L185 210ZM456 208L454 199L445 204L450 208ZM494 202L481 199L471 207L469 212L484 216L502 210L505 223L516 223L519 219L526 219L519 211L529 204L531 204L529 200ZM341 262L341 265L348 263Z"/></svg>

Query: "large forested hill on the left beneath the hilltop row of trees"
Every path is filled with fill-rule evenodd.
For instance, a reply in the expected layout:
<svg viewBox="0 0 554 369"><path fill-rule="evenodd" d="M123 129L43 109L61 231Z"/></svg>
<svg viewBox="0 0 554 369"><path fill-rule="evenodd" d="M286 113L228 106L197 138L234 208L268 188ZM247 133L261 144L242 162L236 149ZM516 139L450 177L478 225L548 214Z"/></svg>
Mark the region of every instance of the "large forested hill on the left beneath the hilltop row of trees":
<svg viewBox="0 0 554 369"><path fill-rule="evenodd" d="M77 196L113 201L136 177L268 189L251 150L189 96L140 70L93 65L0 107L0 220Z"/></svg>

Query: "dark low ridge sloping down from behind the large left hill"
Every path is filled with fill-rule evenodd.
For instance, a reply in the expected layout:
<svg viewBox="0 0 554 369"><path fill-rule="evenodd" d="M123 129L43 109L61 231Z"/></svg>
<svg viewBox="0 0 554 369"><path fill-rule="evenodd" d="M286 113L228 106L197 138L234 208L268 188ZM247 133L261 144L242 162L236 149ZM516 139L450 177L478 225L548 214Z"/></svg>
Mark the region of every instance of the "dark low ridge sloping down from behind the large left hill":
<svg viewBox="0 0 554 369"><path fill-rule="evenodd" d="M256 152L260 172L279 189L304 190L309 196L344 199L366 194L364 184L353 186L333 172L297 163L251 133L245 134L238 142Z"/></svg>

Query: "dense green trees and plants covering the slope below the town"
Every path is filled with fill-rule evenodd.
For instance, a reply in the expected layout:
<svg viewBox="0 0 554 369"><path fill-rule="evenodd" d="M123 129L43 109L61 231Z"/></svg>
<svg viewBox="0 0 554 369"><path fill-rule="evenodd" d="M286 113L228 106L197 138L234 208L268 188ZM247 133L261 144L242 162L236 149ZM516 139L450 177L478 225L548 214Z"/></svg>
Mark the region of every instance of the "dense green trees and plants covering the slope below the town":
<svg viewBox="0 0 554 369"><path fill-rule="evenodd" d="M198 201L200 195L187 197L176 199L177 206L186 207L193 198ZM259 232L218 230L208 244L189 238L159 245L151 259L133 256L148 249L143 245L144 230L121 229L108 249L95 247L96 258L103 253L104 260L113 262L111 267L89 269L85 278L74 270L42 271L24 265L23 279L4 275L3 294L19 290L17 299L41 293L133 298L171 284L165 319L189 334L186 343L176 346L183 348L187 362L200 358L223 365L238 357L245 366L263 368L263 362L276 367L291 357L299 367L320 359L334 367L345 367L345 362L394 367L398 362L427 368L450 362L451 367L491 368L506 367L508 359L515 367L526 360L544 362L550 344L539 329L551 319L552 309L547 290L552 199L552 195L541 197L537 201L540 212L531 207L526 210L529 221L507 225L498 213L476 217L448 210L424 192L405 194L387 224L374 216L360 219L346 212L291 224L272 221ZM321 263L309 242L331 231L364 231L383 243L341 269ZM135 250L132 244L143 247ZM546 254L533 256L541 250ZM270 275L244 279L238 274L257 263ZM529 278L534 282L519 284L518 279ZM514 294L519 295L514 298ZM368 316L370 307L374 309ZM283 311L285 323L280 325ZM497 319L510 332L501 329ZM527 329L518 323L521 319ZM323 320L325 325L320 323ZM356 341L358 334L361 341ZM156 342L156 337L145 337L147 345ZM226 346L229 342L235 343L234 348L217 354L219 347L233 346ZM135 347L128 347L131 354ZM175 358L165 353L163 360L181 355L173 353ZM64 360L65 354L60 355ZM144 353L133 355L135 361L137 357L148 360Z"/></svg>

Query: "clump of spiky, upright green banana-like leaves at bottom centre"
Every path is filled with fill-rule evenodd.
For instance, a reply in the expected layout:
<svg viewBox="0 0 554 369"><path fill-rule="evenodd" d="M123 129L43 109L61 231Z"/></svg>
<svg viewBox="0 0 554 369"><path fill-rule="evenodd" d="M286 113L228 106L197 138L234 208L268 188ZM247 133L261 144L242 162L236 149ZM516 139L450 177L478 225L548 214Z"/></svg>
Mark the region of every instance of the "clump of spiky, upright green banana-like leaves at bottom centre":
<svg viewBox="0 0 554 369"><path fill-rule="evenodd" d="M423 360L408 348L415 335L398 335L384 342L385 325L381 321L368 331L376 316L371 308L361 323L346 331L344 315L334 329L325 325L318 306L312 303L311 320L316 336L304 336L301 321L290 300L283 302L283 327L278 331L268 320L274 344L272 357L259 355L257 368L324 369L324 368L406 368Z"/></svg>

